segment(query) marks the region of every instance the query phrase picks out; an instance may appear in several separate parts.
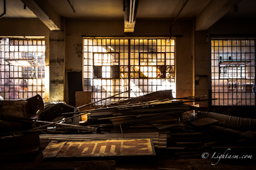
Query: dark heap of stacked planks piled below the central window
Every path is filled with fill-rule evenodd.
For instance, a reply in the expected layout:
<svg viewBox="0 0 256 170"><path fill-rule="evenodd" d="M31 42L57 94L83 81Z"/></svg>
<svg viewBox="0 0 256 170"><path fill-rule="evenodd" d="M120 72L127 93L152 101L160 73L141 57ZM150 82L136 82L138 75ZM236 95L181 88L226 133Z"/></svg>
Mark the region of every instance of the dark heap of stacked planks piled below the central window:
<svg viewBox="0 0 256 170"><path fill-rule="evenodd" d="M177 126L180 114L195 109L183 101L157 100L120 105L90 111L88 125L111 129L121 126L155 126L158 129Z"/></svg>

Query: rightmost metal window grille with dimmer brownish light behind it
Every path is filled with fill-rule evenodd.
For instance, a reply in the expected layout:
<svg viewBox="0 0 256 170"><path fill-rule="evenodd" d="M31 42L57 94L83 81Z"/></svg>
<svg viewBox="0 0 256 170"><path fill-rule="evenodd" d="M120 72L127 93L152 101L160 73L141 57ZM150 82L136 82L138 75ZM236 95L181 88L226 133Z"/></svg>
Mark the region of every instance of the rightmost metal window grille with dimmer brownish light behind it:
<svg viewBox="0 0 256 170"><path fill-rule="evenodd" d="M255 105L255 40L212 40L212 105Z"/></svg>

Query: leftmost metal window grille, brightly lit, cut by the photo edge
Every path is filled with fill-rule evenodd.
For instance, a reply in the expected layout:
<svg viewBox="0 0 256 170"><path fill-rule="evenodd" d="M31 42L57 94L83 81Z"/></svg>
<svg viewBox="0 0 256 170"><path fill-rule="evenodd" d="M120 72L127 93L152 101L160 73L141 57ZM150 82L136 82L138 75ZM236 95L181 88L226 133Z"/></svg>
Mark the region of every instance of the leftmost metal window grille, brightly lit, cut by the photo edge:
<svg viewBox="0 0 256 170"><path fill-rule="evenodd" d="M45 41L0 39L1 100L44 99Z"/></svg>

